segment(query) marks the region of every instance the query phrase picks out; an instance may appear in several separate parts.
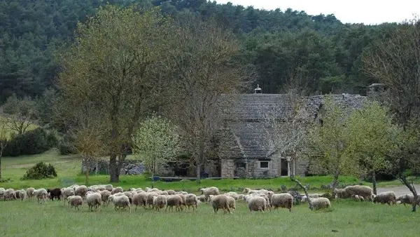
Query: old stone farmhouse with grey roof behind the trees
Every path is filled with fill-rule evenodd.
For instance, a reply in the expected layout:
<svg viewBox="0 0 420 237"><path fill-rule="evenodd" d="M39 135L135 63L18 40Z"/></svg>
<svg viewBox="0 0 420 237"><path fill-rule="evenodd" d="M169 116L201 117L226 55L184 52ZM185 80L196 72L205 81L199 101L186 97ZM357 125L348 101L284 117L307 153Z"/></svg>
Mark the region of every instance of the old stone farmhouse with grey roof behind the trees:
<svg viewBox="0 0 420 237"><path fill-rule="evenodd" d="M367 97L384 92L383 84L367 87L367 96L339 94L333 100L342 109L358 109ZM301 114L304 123L321 121L324 95L304 98ZM261 88L255 93L235 95L230 109L225 111L223 147L218 157L202 167L209 177L281 177L308 175L307 159L293 154L279 154L267 144L265 114L275 109L276 119L285 119L293 112L290 97L284 94L264 94ZM228 115L226 115L228 114ZM234 118L234 119L229 119ZM322 168L321 168L322 170ZM321 171L320 171L321 172ZM312 174L316 171L312 170Z"/></svg>

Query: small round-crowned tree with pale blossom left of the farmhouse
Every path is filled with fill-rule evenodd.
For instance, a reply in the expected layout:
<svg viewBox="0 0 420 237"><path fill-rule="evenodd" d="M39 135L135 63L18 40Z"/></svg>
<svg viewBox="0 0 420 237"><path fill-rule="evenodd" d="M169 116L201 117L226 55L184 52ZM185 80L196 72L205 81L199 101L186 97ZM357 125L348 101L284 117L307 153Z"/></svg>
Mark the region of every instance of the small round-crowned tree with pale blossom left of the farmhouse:
<svg viewBox="0 0 420 237"><path fill-rule="evenodd" d="M176 130L177 127L166 118L153 115L140 123L134 132L133 154L139 156L152 172L152 188L156 168L170 161L179 151L179 135Z"/></svg>

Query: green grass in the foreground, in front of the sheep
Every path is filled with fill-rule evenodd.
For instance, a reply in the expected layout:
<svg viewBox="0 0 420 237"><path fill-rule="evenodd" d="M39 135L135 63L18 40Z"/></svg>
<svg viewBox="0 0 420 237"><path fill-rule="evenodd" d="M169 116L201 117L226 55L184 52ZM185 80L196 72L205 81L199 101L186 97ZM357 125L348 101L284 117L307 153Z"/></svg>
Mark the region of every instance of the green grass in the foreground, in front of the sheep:
<svg viewBox="0 0 420 237"><path fill-rule="evenodd" d="M197 212L130 214L112 204L101 212L64 207L62 202L0 201L1 236L418 236L419 213L410 208L356 201L332 201L330 210L311 211L306 203L249 213L243 201L232 215L214 214L200 203ZM334 230L334 231L333 231Z"/></svg>

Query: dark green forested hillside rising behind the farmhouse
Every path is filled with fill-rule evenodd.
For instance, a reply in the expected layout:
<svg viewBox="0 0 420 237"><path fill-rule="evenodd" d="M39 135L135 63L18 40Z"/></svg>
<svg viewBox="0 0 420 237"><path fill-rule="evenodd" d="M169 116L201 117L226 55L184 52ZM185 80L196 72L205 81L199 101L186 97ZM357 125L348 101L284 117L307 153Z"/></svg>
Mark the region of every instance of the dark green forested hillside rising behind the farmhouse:
<svg viewBox="0 0 420 237"><path fill-rule="evenodd" d="M107 1L0 1L0 102L41 95L53 85L59 65L56 49L73 39L84 22ZM290 77L302 79L310 93L365 93L374 82L361 72L361 58L396 24L345 25L334 15L307 15L292 9L261 11L206 0L109 0L160 6L174 18L193 11L216 16L243 43L241 60L255 67L264 93L280 93ZM252 88L250 88L252 89Z"/></svg>

